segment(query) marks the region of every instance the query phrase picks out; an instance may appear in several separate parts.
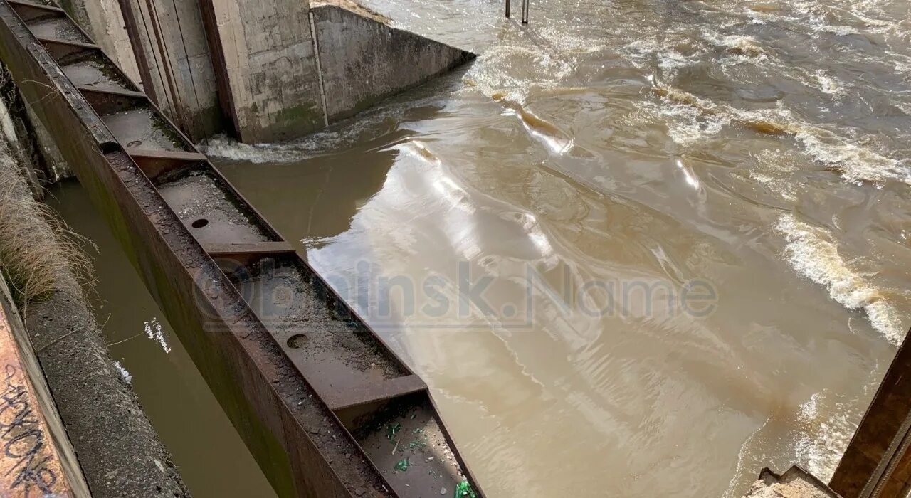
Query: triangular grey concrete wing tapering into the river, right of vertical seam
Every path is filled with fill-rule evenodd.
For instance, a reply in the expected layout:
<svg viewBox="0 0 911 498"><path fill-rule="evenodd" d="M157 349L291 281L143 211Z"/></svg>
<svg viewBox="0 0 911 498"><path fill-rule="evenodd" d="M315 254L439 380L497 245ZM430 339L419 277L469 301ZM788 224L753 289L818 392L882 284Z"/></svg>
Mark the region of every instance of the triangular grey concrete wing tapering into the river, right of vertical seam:
<svg viewBox="0 0 911 498"><path fill-rule="evenodd" d="M336 5L313 6L311 15L330 123L475 57Z"/></svg>

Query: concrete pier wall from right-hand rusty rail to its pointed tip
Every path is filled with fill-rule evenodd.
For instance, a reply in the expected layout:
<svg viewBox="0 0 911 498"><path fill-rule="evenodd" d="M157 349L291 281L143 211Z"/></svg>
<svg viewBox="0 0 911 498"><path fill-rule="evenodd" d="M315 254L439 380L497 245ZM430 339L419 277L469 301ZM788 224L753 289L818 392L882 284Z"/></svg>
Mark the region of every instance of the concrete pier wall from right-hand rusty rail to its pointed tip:
<svg viewBox="0 0 911 498"><path fill-rule="evenodd" d="M242 142L302 137L474 58L337 5L201 1Z"/></svg>

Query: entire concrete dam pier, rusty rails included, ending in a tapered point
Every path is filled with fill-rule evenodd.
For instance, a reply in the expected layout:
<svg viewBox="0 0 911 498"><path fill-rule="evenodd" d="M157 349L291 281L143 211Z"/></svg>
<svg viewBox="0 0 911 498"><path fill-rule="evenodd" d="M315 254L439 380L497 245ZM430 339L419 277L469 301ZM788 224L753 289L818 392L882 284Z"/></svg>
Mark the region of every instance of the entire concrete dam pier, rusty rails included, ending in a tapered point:
<svg viewBox="0 0 911 498"><path fill-rule="evenodd" d="M474 58L359 5L307 0L66 0L189 137L302 137Z"/></svg>

